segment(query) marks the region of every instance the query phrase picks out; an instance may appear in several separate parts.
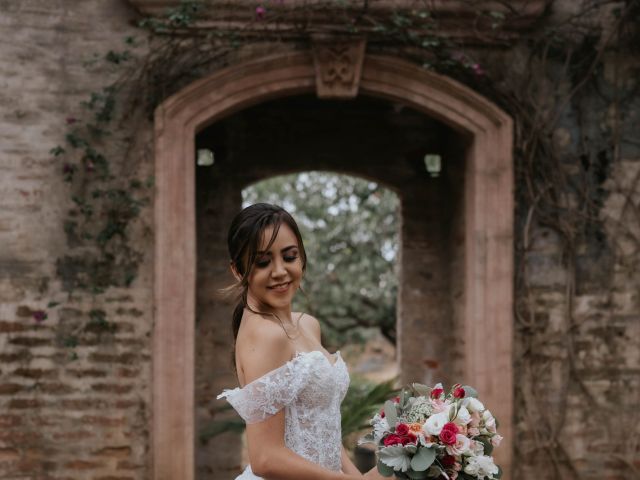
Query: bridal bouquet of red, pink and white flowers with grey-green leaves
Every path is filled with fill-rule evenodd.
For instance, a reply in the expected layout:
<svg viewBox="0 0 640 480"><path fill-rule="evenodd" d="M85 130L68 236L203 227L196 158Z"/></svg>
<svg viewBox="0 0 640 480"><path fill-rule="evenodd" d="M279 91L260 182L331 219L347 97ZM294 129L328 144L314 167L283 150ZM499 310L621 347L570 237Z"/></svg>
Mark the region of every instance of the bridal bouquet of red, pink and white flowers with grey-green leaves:
<svg viewBox="0 0 640 480"><path fill-rule="evenodd" d="M414 383L387 400L359 443L377 446L378 471L401 479L492 480L502 475L491 452L497 422L469 386L445 393Z"/></svg>

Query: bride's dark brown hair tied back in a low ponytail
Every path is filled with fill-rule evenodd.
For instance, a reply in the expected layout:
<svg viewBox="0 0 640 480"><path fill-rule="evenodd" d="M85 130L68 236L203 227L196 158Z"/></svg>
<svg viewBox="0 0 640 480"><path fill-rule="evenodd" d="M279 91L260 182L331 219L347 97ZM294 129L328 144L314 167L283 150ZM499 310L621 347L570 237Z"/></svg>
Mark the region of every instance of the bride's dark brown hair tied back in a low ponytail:
<svg viewBox="0 0 640 480"><path fill-rule="evenodd" d="M307 267L307 254L302 243L302 235L300 235L298 224L284 208L270 203L255 203L238 213L229 227L227 246L231 257L231 265L241 276L241 279L230 287L231 290L236 291L238 297L238 304L233 311L231 323L234 349L235 341L238 338L238 330L240 330L242 314L245 308L249 308L247 305L249 274L258 255L262 237L268 227L273 227L273 233L266 248L268 250L275 241L283 223L291 228L296 236L300 259L302 260L302 271L304 272Z"/></svg>

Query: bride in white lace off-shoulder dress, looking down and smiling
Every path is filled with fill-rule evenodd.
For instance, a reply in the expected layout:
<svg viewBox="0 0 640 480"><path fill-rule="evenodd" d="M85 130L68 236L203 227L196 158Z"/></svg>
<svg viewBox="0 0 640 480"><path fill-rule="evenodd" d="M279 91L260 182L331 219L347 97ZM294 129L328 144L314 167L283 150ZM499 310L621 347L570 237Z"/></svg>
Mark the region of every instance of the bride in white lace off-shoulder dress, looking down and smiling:
<svg viewBox="0 0 640 480"><path fill-rule="evenodd" d="M228 247L241 387L218 398L247 424L250 465L237 480L362 478L341 442L347 367L339 351L322 347L318 320L291 311L307 265L295 220L281 207L251 205L231 223ZM375 468L364 476L382 478Z"/></svg>

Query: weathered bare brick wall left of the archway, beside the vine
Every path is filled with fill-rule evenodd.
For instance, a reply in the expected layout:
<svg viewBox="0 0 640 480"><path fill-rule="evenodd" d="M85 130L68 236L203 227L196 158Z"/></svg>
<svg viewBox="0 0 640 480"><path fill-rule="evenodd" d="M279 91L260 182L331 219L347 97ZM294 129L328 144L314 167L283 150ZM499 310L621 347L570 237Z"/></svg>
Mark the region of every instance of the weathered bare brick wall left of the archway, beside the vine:
<svg viewBox="0 0 640 480"><path fill-rule="evenodd" d="M135 16L122 1L0 2L3 479L149 478L152 244L131 288L64 292L56 260L71 202L49 154L63 144L65 119L82 115L80 101L116 74L87 62L121 50ZM113 331L91 324L95 309Z"/></svg>

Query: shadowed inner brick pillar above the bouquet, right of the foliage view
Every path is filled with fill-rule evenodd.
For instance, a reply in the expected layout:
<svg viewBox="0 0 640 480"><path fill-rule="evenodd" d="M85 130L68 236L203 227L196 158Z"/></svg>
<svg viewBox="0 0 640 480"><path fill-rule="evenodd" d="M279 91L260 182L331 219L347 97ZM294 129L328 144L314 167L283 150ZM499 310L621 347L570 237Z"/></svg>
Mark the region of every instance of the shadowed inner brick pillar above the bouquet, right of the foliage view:
<svg viewBox="0 0 640 480"><path fill-rule="evenodd" d="M447 204L441 177L402 191L398 361L403 384L448 382L451 333Z"/></svg>

